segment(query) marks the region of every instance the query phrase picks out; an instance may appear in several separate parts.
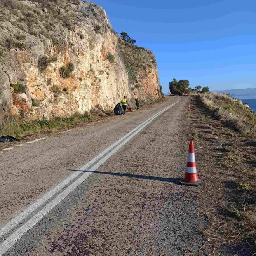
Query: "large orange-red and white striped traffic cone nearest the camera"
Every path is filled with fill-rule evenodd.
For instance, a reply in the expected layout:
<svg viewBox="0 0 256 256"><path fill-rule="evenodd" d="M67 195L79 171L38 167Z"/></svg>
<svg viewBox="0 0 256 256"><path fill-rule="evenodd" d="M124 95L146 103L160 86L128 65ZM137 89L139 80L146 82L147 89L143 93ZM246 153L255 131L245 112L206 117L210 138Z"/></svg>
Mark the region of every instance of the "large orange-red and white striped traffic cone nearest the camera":
<svg viewBox="0 0 256 256"><path fill-rule="evenodd" d="M194 143L190 141L188 148L188 161L187 161L187 169L185 172L185 178L183 181L179 181L182 185L188 186L201 186L202 180L200 180L197 176L197 167L195 164L195 151L194 151Z"/></svg>

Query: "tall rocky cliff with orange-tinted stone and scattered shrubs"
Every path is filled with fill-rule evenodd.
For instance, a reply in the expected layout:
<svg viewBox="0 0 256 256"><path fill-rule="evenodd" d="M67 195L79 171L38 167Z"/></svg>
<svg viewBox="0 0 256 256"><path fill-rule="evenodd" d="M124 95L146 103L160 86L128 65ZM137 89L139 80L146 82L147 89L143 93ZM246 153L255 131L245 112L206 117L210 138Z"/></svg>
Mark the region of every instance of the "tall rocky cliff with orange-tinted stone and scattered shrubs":
<svg viewBox="0 0 256 256"><path fill-rule="evenodd" d="M110 111L122 96L162 97L153 53L124 42L79 0L0 0L0 118Z"/></svg>

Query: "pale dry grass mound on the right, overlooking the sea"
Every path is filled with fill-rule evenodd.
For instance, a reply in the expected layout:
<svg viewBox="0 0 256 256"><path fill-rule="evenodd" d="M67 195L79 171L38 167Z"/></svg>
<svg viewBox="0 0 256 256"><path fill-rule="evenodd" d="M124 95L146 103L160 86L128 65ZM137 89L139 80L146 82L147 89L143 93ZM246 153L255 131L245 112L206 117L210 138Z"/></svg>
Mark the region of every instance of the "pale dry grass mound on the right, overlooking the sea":
<svg viewBox="0 0 256 256"><path fill-rule="evenodd" d="M200 99L226 125L238 129L246 138L256 138L256 115L239 100L219 93L201 94Z"/></svg>

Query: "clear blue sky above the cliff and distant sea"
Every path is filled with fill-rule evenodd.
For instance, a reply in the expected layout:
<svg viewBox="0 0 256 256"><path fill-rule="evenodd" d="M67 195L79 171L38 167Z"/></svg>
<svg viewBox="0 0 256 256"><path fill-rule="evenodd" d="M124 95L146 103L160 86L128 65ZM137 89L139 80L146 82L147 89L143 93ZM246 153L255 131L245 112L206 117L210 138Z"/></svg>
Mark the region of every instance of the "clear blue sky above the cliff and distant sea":
<svg viewBox="0 0 256 256"><path fill-rule="evenodd" d="M256 0L94 0L114 30L155 53L164 92L256 87Z"/></svg>

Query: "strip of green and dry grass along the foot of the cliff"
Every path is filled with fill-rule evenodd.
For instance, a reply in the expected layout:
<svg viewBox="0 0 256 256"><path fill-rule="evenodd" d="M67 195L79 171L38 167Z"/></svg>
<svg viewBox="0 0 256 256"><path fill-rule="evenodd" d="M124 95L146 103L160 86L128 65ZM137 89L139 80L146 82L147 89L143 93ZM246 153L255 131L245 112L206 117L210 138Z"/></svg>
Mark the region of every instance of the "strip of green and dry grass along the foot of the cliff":
<svg viewBox="0 0 256 256"><path fill-rule="evenodd" d="M165 99L157 99L155 101L143 102L141 108L147 108L148 106L157 104L159 102L162 102L163 100ZM69 129L71 127L78 127L85 123L93 122L95 120L101 120L113 115L114 114L112 112L103 113L101 110L98 109L93 109L91 113L75 113L70 117L56 117L50 120L46 120L44 118L29 120L28 118L23 118L18 115L10 115L5 119L0 120L0 136L10 135L20 139L24 136L30 136L31 134L51 133L55 131Z"/></svg>

